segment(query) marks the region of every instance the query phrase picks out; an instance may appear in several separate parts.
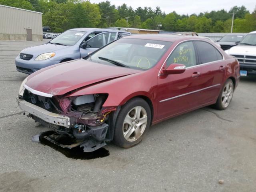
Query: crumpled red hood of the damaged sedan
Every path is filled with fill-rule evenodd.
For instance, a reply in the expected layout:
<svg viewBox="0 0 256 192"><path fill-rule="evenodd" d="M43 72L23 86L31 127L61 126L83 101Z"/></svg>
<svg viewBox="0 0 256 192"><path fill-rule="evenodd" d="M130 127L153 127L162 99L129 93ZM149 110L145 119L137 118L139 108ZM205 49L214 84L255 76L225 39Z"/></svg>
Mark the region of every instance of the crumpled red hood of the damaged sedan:
<svg viewBox="0 0 256 192"><path fill-rule="evenodd" d="M28 77L26 85L55 96L138 72L142 71L78 59L38 70Z"/></svg>

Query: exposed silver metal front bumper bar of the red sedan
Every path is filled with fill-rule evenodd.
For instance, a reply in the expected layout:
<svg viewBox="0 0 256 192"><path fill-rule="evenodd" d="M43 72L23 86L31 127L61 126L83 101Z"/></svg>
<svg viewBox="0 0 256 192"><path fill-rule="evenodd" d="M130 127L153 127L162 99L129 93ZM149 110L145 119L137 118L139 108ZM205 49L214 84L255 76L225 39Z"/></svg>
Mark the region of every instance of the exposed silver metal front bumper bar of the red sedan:
<svg viewBox="0 0 256 192"><path fill-rule="evenodd" d="M70 118L68 116L49 112L23 99L17 98L17 103L22 110L29 112L30 114L44 120L45 122L64 126L66 128L70 127Z"/></svg>

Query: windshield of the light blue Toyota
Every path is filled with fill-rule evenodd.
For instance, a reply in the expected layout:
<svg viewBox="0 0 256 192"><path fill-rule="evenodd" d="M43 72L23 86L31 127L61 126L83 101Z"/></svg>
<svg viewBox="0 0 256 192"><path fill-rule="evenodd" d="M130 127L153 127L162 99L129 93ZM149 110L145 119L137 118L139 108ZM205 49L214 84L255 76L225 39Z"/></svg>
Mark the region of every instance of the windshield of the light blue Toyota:
<svg viewBox="0 0 256 192"><path fill-rule="evenodd" d="M86 34L85 31L65 31L64 33L56 36L56 38L51 40L50 43L72 46L76 44L84 34Z"/></svg>

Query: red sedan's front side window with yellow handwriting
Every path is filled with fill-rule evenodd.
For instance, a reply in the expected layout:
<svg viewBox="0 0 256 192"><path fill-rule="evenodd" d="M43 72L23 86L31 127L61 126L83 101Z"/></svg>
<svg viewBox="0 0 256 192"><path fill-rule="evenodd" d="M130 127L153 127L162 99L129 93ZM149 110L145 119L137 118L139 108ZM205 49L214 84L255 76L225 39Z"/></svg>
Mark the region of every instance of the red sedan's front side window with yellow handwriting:
<svg viewBox="0 0 256 192"><path fill-rule="evenodd" d="M168 67L172 63L184 64L186 67L196 65L196 53L193 42L184 42L174 49L166 61Z"/></svg>

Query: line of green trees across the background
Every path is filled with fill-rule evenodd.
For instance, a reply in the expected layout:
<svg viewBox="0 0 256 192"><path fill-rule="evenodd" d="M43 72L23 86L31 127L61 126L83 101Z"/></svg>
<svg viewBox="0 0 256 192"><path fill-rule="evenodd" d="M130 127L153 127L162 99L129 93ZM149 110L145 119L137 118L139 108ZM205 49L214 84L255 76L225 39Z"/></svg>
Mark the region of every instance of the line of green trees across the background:
<svg viewBox="0 0 256 192"><path fill-rule="evenodd" d="M42 12L43 26L53 32L70 28L128 27L166 31L230 32L234 12L233 32L256 30L256 7L250 13L245 6L229 11L213 10L200 14L166 14L159 6L133 9L127 4L115 6L110 1L98 4L84 0L0 0L0 4Z"/></svg>

